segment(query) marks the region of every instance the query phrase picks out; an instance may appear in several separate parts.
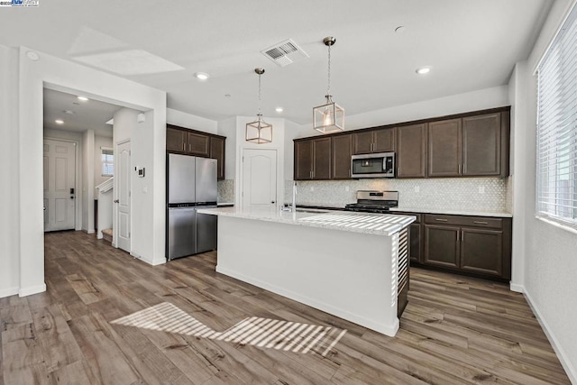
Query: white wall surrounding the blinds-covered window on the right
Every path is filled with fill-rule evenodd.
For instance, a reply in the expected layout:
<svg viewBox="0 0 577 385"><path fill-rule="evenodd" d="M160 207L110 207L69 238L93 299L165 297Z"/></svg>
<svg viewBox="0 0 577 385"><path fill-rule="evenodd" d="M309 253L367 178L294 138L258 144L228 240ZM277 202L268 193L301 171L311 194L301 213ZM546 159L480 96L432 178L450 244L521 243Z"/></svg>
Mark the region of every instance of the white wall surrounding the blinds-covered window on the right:
<svg viewBox="0 0 577 385"><path fill-rule="evenodd" d="M577 234L536 219L536 78L533 73L574 0L554 2L526 62L518 63L509 87L515 95L514 275L544 326L572 383L577 383ZM523 231L524 229L524 231ZM517 260L517 261L516 261Z"/></svg>

